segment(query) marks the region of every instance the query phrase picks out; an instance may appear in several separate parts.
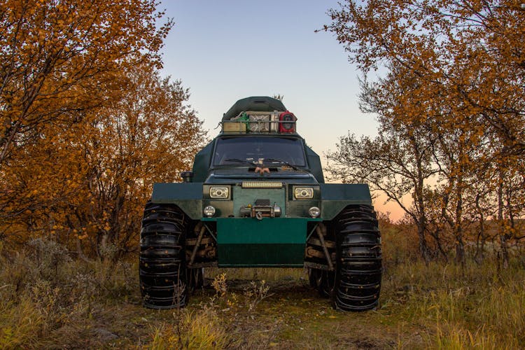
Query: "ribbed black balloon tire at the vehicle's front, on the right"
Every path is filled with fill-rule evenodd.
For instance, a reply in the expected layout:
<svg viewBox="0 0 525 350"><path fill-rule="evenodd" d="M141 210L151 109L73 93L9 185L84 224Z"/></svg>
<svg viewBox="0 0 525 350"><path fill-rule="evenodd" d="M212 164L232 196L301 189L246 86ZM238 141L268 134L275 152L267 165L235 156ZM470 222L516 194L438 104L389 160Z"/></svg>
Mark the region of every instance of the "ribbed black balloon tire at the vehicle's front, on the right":
<svg viewBox="0 0 525 350"><path fill-rule="evenodd" d="M381 290L381 235L374 209L349 206L335 225L337 262L332 305L344 311L377 307Z"/></svg>

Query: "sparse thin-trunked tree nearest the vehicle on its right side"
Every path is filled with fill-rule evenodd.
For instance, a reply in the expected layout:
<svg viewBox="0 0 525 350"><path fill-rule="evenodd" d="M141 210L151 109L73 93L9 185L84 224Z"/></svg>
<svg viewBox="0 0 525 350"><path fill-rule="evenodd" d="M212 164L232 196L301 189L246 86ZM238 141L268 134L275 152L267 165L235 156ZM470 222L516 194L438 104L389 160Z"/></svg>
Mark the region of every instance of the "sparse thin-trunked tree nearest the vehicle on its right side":
<svg viewBox="0 0 525 350"><path fill-rule="evenodd" d="M413 99L419 81L402 69L391 68L384 79L376 83L361 82L360 109L374 113L379 120L378 136L356 138L353 134L342 137L337 151L327 153L330 178L343 182L369 183L372 191L386 195L394 201L416 225L419 252L425 260L432 255L428 239L435 238L437 253L443 253L439 232L428 226L429 182L438 173L433 162L434 140L426 118L434 111L424 108ZM423 113L412 123L399 123L395 116ZM408 200L407 200L408 197ZM434 245L434 244L433 244Z"/></svg>

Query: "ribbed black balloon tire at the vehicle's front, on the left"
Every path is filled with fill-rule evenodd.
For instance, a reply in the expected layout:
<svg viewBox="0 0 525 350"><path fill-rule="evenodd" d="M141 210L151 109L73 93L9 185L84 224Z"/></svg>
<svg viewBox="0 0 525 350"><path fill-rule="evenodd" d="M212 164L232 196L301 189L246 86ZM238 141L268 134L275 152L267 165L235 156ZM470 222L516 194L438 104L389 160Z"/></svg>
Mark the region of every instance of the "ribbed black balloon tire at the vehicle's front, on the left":
<svg viewBox="0 0 525 350"><path fill-rule="evenodd" d="M146 204L142 219L139 279L145 307L171 309L188 300L185 216L172 204Z"/></svg>

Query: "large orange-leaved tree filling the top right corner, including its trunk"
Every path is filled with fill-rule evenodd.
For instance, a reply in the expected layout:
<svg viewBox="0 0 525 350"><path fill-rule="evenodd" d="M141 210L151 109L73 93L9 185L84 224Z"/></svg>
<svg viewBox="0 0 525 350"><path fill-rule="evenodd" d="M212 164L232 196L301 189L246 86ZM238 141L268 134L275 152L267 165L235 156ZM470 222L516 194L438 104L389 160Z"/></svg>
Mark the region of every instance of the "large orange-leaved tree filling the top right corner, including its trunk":
<svg viewBox="0 0 525 350"><path fill-rule="evenodd" d="M502 218L501 188L510 185L509 176L521 175L510 193L523 187L524 9L517 1L499 0L348 0L329 15L332 23L325 29L336 34L363 74L380 66L404 72L379 86L382 98L397 94L401 107L379 114L407 128L428 125L425 139L431 139L440 169L440 186L429 202L437 207L430 208L440 214L435 220L454 232L456 257L463 260L463 218L476 207L476 198L479 212L487 207L479 199L497 193L492 204ZM413 86L414 79L418 87L408 96L395 91L400 82ZM403 108L407 98L410 110ZM484 186L472 186L479 169L486 171ZM483 188L483 194L472 193L475 188ZM516 210L523 197L511 202ZM490 211L481 216L491 216Z"/></svg>

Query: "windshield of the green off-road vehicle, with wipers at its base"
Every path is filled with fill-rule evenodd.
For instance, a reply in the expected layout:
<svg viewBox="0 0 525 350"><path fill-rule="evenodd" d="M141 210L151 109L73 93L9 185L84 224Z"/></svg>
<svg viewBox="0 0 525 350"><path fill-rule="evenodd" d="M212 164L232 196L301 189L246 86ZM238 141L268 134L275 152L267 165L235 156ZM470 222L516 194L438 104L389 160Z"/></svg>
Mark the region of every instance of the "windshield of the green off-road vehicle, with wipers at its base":
<svg viewBox="0 0 525 350"><path fill-rule="evenodd" d="M287 137L228 137L217 140L214 165L288 163L304 167L304 148L301 139Z"/></svg>

